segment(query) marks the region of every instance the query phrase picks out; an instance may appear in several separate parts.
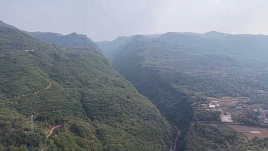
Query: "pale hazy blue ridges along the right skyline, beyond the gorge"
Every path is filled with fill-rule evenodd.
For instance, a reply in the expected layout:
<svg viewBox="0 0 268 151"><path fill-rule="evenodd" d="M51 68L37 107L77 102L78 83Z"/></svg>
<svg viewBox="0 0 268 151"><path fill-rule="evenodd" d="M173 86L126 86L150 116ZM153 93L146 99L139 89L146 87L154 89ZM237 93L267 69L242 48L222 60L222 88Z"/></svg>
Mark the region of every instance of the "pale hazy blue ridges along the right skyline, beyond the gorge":
<svg viewBox="0 0 268 151"><path fill-rule="evenodd" d="M207 33L199 34L194 32L168 32L165 34L154 34L154 35L133 35L129 37L118 37L113 41L101 41L97 42L98 46L102 49L105 56L107 56L111 61L114 59L115 55L124 49L126 45L133 42L134 37L147 37L151 41L157 40L179 40L181 39L185 42L192 39L198 39L199 42L202 42L203 45L214 46L220 49L237 49L241 51L245 50L254 50L262 51L267 48L267 35L251 35L251 34L227 34L217 31L210 31ZM174 38L174 39L173 39ZM195 45L196 43L192 43ZM232 48L228 48L232 46ZM203 46L202 46L203 47Z"/></svg>

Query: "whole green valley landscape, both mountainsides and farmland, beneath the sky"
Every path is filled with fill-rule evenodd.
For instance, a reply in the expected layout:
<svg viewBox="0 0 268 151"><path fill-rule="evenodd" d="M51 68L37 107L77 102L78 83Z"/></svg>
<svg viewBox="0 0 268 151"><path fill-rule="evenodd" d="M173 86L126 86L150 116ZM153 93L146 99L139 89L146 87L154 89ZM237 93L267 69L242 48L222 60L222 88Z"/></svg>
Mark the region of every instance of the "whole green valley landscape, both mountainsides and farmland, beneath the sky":
<svg viewBox="0 0 268 151"><path fill-rule="evenodd" d="M170 32L153 38L121 37L113 41L116 44L99 43L115 46L101 50L85 35L28 33L7 25L2 30L14 34L0 35L6 41L20 34L31 39L19 38L25 41L14 47L1 45L4 148L31 145L57 151L61 145L49 143L57 139L64 148L81 151L267 148L260 145L268 137L268 54L262 52L266 46L256 48L256 54L236 45L230 52L230 44L209 38L225 37L223 33ZM68 43L80 38L87 42ZM103 57L107 51L115 51L109 52L110 62L126 79ZM34 132L29 131L32 114ZM12 146L7 135L12 132L34 140L17 140ZM67 145L66 137L75 143ZM82 142L87 146L79 146Z"/></svg>

